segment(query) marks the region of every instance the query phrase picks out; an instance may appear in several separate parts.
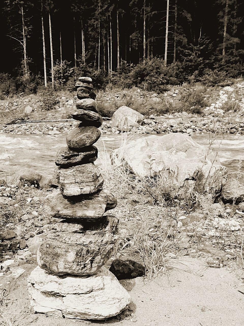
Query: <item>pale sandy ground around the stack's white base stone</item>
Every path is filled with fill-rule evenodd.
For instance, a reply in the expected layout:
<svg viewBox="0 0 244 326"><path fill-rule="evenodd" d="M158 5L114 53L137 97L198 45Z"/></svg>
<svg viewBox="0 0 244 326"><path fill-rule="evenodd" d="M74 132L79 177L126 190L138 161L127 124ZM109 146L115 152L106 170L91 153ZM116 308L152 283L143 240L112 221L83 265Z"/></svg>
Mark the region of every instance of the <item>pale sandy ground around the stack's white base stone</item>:
<svg viewBox="0 0 244 326"><path fill-rule="evenodd" d="M26 280L34 265L24 265L25 273L14 279L1 277L0 325L31 326L241 326L244 325L244 284L237 269L209 268L204 259L179 260L177 270L152 280L139 277L122 280L132 303L120 316L105 321L53 318L34 314L29 304ZM184 265L183 265L183 264ZM188 272L186 272L186 270ZM10 323L11 322L11 323Z"/></svg>

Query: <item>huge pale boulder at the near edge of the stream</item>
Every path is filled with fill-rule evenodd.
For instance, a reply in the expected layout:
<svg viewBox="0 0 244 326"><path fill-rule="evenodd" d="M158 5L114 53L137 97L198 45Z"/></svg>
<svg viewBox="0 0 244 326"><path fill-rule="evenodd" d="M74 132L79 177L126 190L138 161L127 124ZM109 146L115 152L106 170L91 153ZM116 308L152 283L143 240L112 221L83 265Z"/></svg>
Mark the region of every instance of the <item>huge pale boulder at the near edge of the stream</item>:
<svg viewBox="0 0 244 326"><path fill-rule="evenodd" d="M227 169L206 146L180 133L151 135L129 141L113 156L124 160L141 179L158 177L161 192L190 198L192 194L220 196L227 179Z"/></svg>

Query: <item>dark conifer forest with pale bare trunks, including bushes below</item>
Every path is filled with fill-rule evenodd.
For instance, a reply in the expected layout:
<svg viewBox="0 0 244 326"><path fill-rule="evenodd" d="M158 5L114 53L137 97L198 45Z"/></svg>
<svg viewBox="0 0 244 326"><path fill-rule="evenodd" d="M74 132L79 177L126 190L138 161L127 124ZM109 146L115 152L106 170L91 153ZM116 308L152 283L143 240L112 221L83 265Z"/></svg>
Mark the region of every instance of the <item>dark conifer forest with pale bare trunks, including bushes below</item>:
<svg viewBox="0 0 244 326"><path fill-rule="evenodd" d="M90 75L163 90L218 83L244 72L238 0L5 0L0 92L69 87Z"/></svg>

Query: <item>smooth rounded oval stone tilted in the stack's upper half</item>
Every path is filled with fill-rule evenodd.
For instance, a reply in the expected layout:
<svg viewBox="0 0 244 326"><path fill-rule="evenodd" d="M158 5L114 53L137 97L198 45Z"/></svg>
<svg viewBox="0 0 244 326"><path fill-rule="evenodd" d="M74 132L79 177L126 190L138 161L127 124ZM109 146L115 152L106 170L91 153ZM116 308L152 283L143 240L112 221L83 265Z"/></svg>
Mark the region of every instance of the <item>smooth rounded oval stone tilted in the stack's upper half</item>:
<svg viewBox="0 0 244 326"><path fill-rule="evenodd" d="M76 126L66 137L66 143L71 150L80 150L93 145L101 136L101 132L94 126Z"/></svg>

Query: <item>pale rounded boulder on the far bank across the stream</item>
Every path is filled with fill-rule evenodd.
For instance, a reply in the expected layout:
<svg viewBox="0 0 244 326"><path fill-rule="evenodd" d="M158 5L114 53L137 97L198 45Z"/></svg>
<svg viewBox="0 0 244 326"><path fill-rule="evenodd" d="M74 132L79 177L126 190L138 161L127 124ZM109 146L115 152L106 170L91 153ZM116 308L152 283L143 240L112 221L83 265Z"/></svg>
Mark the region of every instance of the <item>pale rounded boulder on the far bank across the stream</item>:
<svg viewBox="0 0 244 326"><path fill-rule="evenodd" d="M141 113L130 109L128 106L121 106L112 116L111 127L121 131L129 131L132 127L138 126L145 119Z"/></svg>

